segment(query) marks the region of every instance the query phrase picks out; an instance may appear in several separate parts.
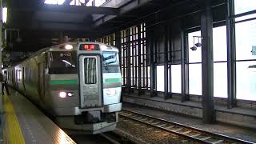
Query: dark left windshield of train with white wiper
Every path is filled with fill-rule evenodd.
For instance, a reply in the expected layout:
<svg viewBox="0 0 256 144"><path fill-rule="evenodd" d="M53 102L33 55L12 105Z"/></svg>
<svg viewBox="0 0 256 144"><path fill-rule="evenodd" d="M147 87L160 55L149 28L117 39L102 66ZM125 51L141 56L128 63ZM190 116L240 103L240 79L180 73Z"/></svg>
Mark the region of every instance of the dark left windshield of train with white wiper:
<svg viewBox="0 0 256 144"><path fill-rule="evenodd" d="M78 73L76 51L52 51L49 55L49 74Z"/></svg>

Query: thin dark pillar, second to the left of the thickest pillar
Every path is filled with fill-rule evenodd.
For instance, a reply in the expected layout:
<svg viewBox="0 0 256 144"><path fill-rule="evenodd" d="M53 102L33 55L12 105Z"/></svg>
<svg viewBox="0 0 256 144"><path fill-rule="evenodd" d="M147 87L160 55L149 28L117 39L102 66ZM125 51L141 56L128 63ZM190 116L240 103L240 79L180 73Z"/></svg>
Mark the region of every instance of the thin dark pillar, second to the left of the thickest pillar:
<svg viewBox="0 0 256 144"><path fill-rule="evenodd" d="M165 99L169 98L168 95L168 49L169 49L169 25L166 23L166 34L165 34L165 65L164 65L164 82L165 82Z"/></svg>

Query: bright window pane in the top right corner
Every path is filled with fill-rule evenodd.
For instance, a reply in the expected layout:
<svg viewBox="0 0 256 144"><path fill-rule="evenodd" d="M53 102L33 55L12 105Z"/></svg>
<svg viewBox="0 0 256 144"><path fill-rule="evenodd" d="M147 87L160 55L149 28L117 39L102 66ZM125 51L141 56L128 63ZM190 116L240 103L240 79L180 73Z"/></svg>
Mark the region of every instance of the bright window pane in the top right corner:
<svg viewBox="0 0 256 144"><path fill-rule="evenodd" d="M234 0L234 14L241 14L251 10L256 10L255 0Z"/></svg>

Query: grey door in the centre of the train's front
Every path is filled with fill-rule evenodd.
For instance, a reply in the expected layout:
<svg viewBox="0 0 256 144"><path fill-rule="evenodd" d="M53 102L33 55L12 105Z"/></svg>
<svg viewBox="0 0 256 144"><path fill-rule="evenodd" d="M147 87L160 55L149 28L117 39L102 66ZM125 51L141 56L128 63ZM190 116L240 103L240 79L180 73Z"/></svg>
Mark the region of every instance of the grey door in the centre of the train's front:
<svg viewBox="0 0 256 144"><path fill-rule="evenodd" d="M102 106L102 66L100 56L79 57L80 102L82 108Z"/></svg>

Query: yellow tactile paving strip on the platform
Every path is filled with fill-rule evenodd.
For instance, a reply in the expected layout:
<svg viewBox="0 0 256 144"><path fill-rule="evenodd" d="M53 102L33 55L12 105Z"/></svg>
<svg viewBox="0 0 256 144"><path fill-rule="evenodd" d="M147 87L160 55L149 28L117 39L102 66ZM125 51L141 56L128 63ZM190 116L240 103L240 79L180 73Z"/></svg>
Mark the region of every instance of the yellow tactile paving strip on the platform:
<svg viewBox="0 0 256 144"><path fill-rule="evenodd" d="M7 95L4 95L3 98L5 109L4 143L25 144L22 130L14 112L14 106L12 105L12 102L10 102L10 98L8 98Z"/></svg>

